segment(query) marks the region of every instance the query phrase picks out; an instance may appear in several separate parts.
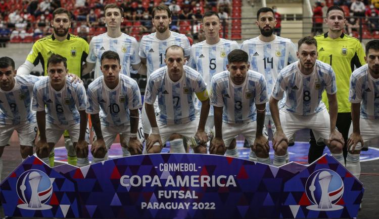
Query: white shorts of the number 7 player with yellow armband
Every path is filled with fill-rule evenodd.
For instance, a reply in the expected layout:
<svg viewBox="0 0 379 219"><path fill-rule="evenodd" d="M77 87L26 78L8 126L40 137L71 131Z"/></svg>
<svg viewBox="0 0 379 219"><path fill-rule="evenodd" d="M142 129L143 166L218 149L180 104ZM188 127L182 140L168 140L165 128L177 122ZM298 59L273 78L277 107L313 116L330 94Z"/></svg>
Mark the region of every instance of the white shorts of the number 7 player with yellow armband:
<svg viewBox="0 0 379 219"><path fill-rule="evenodd" d="M177 124L177 125L166 125L157 121L159 134L161 136L162 144L164 145L171 134L180 134L183 137L191 138L195 136L196 131L198 130L199 119L195 119L191 122ZM151 134L151 133L150 133Z"/></svg>

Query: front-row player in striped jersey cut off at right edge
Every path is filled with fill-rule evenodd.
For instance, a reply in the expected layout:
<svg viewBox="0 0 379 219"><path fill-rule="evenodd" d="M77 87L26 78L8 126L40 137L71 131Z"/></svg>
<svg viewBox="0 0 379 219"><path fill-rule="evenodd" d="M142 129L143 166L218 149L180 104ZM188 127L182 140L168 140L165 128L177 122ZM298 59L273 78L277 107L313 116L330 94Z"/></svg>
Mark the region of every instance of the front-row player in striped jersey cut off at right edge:
<svg viewBox="0 0 379 219"><path fill-rule="evenodd" d="M359 179L359 155L368 149L370 140L379 138L379 40L366 44L367 64L356 69L350 78L349 101L352 124L349 129L346 168Z"/></svg>

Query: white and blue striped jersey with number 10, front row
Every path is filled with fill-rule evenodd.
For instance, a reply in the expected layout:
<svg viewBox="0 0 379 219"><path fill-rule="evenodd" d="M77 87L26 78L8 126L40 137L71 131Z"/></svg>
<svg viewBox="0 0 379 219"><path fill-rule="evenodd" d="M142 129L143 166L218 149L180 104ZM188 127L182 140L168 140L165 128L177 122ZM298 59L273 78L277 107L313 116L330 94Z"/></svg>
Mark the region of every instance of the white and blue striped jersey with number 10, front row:
<svg viewBox="0 0 379 219"><path fill-rule="evenodd" d="M119 75L116 88L109 89L104 76L94 80L88 86L86 112L99 113L100 122L105 126L129 124L130 110L142 107L141 94L137 82Z"/></svg>

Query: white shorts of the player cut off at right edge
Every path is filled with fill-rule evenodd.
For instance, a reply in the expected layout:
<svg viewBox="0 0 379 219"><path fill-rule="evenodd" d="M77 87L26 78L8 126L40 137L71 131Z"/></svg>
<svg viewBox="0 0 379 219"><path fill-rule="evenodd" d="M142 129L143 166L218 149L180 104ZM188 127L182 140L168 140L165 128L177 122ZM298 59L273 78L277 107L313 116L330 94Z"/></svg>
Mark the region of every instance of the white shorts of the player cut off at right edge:
<svg viewBox="0 0 379 219"><path fill-rule="evenodd" d="M363 139L363 148L360 142L355 145L356 150L367 151L371 140L379 138L376 128L379 127L379 119L359 119L359 129L361 131L361 137ZM353 133L353 123L350 125L349 136Z"/></svg>

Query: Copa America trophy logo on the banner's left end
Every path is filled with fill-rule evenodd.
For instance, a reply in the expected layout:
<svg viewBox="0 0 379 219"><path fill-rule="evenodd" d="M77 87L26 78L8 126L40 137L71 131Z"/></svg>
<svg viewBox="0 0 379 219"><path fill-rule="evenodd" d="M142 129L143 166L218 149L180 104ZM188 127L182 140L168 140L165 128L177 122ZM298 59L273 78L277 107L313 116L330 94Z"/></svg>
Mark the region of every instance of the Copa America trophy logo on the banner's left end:
<svg viewBox="0 0 379 219"><path fill-rule="evenodd" d="M53 194L53 181L40 170L28 170L17 180L17 194L24 202L17 205L22 209L46 210L52 208L45 204Z"/></svg>

